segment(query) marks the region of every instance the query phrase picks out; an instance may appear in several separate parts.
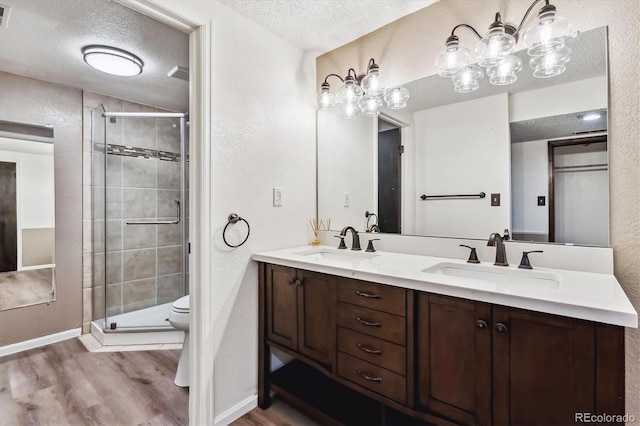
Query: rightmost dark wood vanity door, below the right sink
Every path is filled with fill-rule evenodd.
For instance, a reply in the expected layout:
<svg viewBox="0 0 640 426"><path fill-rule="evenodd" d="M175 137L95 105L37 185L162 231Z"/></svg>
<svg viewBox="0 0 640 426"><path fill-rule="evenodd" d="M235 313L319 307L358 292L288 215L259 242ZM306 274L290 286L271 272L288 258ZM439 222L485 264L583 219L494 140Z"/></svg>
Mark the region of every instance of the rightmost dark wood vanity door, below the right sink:
<svg viewBox="0 0 640 426"><path fill-rule="evenodd" d="M568 425L595 413L595 329L585 321L493 308L494 424Z"/></svg>

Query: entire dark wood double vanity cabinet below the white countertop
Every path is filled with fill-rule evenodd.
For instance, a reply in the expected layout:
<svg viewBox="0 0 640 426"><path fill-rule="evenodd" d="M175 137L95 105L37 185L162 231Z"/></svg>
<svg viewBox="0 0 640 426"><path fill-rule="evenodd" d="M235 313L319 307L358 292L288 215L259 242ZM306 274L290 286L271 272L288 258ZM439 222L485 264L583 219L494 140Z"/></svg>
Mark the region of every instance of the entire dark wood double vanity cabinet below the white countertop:
<svg viewBox="0 0 640 426"><path fill-rule="evenodd" d="M323 424L624 413L622 327L261 263L260 330L259 406ZM272 347L296 360L271 372Z"/></svg>

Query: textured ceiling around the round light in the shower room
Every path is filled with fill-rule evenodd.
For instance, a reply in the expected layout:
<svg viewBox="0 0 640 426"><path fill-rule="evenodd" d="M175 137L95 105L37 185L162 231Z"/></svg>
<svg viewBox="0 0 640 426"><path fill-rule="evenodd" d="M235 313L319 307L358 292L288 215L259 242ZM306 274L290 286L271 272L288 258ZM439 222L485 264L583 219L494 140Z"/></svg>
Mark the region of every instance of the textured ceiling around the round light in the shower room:
<svg viewBox="0 0 640 426"><path fill-rule="evenodd" d="M188 67L187 34L111 0L0 0L11 8L0 28L0 71L86 89L174 111L188 109L189 84L167 77ZM136 54L144 71L118 77L96 71L81 49L104 44Z"/></svg>

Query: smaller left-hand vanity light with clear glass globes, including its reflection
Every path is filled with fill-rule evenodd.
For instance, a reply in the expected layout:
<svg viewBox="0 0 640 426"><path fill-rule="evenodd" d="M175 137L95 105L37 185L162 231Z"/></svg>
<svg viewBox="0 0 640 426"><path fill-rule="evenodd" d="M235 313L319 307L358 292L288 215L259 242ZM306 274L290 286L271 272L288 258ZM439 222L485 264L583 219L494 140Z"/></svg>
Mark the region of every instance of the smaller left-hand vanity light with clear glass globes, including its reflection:
<svg viewBox="0 0 640 426"><path fill-rule="evenodd" d="M327 81L329 77L336 77L343 83L335 94L331 92L331 86ZM404 87L388 86L387 76L380 73L380 67L371 58L364 75L358 75L353 68L349 68L345 78L338 74L327 75L316 94L316 108L338 108L342 118L353 119L360 114L377 116L385 104L389 109L406 107L409 91Z"/></svg>

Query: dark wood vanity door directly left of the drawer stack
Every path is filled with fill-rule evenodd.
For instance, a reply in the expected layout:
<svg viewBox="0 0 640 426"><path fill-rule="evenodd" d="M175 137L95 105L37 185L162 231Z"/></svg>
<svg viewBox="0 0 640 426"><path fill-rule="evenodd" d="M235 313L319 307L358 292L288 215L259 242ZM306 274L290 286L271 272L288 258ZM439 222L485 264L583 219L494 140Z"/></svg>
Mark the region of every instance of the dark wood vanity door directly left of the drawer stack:
<svg viewBox="0 0 640 426"><path fill-rule="evenodd" d="M298 351L331 364L336 346L335 294L331 275L299 271Z"/></svg>

